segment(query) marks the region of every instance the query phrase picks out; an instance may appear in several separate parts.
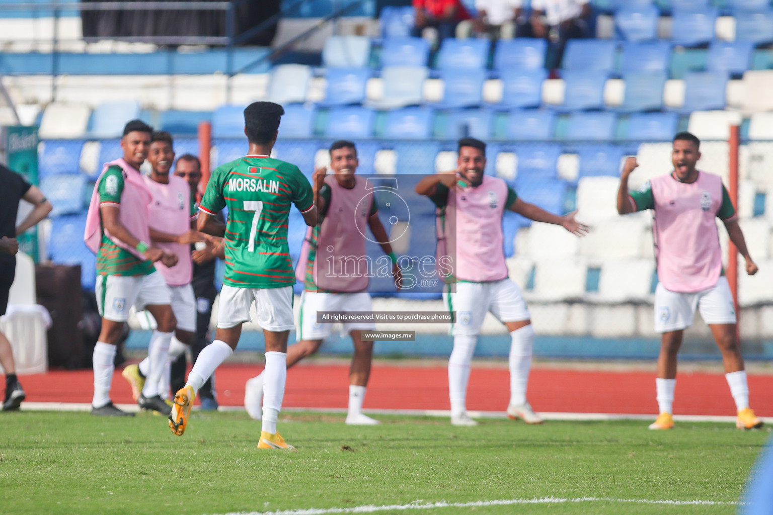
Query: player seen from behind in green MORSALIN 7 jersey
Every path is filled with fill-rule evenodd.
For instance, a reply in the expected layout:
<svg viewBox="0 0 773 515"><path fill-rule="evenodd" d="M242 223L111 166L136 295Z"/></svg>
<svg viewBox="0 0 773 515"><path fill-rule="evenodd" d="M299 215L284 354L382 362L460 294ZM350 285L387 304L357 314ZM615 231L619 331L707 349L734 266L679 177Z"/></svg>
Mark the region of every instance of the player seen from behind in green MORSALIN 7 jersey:
<svg viewBox="0 0 773 515"><path fill-rule="evenodd" d="M215 341L199 354L188 382L175 395L169 428L182 435L196 391L237 347L241 326L255 303L264 330L263 425L259 449L291 449L277 432L287 376L288 334L294 327L295 271L288 248L288 215L295 205L306 225L318 222L312 185L295 164L272 159L284 109L255 102L244 110L247 155L213 171L199 205L198 229L225 239L226 271L220 290ZM215 215L228 208L225 224Z"/></svg>

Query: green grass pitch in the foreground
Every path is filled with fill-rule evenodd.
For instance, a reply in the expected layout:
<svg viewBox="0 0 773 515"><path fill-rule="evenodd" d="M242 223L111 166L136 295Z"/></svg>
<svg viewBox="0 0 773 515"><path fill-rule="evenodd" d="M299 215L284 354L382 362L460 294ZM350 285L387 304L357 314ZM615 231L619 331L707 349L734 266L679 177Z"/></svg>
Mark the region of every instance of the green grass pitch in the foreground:
<svg viewBox="0 0 773 515"><path fill-rule="evenodd" d="M0 413L0 513L231 513L558 497L519 506L379 513L734 513L770 434L729 423L381 417L346 426L338 415L283 414L295 452L257 449L258 422L242 413L194 413L177 437L165 419L74 412Z"/></svg>

